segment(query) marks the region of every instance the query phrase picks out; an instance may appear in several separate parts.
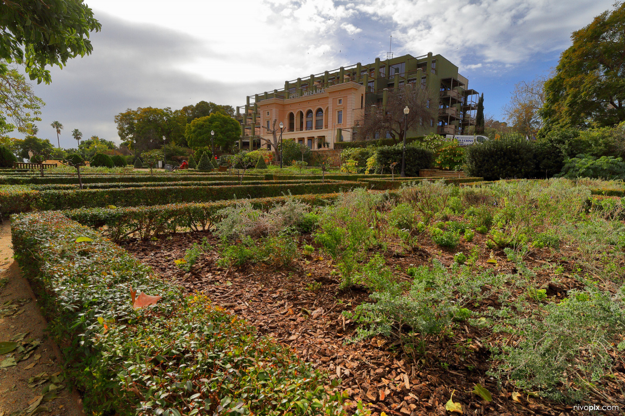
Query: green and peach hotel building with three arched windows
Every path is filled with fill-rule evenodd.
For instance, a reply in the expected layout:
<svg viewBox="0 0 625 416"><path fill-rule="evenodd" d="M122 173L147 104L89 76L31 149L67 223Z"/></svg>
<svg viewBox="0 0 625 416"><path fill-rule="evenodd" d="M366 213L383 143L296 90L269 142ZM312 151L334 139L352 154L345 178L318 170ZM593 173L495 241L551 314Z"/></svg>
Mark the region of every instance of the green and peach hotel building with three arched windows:
<svg viewBox="0 0 625 416"><path fill-rule="evenodd" d="M242 127L239 148L265 147L259 138L271 140L276 120L278 135L279 123L284 124L282 139L294 139L314 150L334 149L336 142L356 137L365 107L385 106L389 91L406 84L427 87L432 92L431 106L439 109L436 118L424 122L419 135L461 134L475 125L477 91L469 89L457 66L431 52L419 57L389 53L384 61L376 58L372 64L358 62L311 74L284 82L282 89L247 96L246 104L236 109Z"/></svg>

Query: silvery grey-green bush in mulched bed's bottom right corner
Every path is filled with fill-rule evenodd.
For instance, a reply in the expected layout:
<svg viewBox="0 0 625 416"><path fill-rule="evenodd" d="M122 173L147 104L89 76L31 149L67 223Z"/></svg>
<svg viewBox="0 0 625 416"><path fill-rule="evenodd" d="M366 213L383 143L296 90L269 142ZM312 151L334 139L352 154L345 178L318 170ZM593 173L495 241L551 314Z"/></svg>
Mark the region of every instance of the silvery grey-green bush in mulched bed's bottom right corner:
<svg viewBox="0 0 625 416"><path fill-rule="evenodd" d="M592 386L611 374L611 354L622 354L617 345L625 331L624 306L592 287L571 290L559 303L527 305L508 327L521 341L504 345L499 373L519 389L539 389L549 399L586 399Z"/></svg>

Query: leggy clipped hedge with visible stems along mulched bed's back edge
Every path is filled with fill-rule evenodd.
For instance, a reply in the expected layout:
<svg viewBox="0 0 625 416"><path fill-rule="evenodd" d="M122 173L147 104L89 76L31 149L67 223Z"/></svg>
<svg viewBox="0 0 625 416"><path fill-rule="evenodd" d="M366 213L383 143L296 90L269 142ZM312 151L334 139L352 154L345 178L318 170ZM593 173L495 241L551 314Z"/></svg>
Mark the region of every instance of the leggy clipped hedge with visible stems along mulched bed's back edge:
<svg viewBox="0 0 625 416"><path fill-rule="evenodd" d="M283 204L290 198L306 202L311 206L323 206L328 201L336 199L337 196L336 193L279 196L251 199L250 202L256 209L269 209ZM101 232L104 235L114 241L119 241L131 234L141 239L148 239L164 232L208 230L221 219L217 211L236 203L236 200L231 200L151 207L81 208L64 211L64 214L80 224L102 229Z"/></svg>

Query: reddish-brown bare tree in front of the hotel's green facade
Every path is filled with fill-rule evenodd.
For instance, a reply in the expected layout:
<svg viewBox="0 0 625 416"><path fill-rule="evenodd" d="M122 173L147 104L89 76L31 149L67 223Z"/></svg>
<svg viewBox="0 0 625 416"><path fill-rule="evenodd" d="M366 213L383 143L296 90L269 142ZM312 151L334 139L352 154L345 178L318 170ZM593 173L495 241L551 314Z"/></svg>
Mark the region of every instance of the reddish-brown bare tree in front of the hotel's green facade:
<svg viewBox="0 0 625 416"><path fill-rule="evenodd" d="M407 84L389 91L386 107L371 106L364 111L364 119L358 127L358 137L376 137L377 134L389 134L395 144L404 140L406 131L424 129L422 121L435 117L434 109L429 107L431 92L427 88ZM405 116L404 108L410 112ZM404 129L405 128L405 129Z"/></svg>

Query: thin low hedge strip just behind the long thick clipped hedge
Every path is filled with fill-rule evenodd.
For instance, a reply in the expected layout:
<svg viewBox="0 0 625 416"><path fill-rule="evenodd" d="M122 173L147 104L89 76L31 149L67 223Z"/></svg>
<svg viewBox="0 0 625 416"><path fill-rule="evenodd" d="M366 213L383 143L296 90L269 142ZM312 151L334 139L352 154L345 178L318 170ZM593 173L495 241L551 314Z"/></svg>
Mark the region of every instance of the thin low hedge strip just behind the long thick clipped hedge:
<svg viewBox="0 0 625 416"><path fill-rule="evenodd" d="M326 179L326 182L336 182L332 179ZM282 184L282 185L292 185L292 184L318 184L321 183L321 179L308 179L302 181L272 181L272 185ZM266 181L243 181L243 185L267 185ZM211 181L209 183L210 186L233 186L237 185L237 182L232 181ZM138 188L138 187L163 187L163 186L207 186L207 182L191 182L191 181L181 181L176 182L176 184L172 184L171 182L125 182L118 184L86 184L84 185L84 189L113 189L113 188ZM78 189L78 184L67 185L67 184L50 184L50 185L29 185L27 186L34 191L49 191L54 189Z"/></svg>

